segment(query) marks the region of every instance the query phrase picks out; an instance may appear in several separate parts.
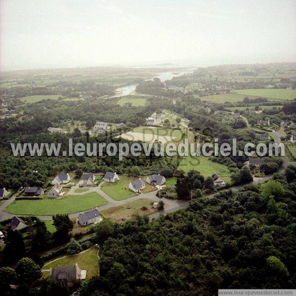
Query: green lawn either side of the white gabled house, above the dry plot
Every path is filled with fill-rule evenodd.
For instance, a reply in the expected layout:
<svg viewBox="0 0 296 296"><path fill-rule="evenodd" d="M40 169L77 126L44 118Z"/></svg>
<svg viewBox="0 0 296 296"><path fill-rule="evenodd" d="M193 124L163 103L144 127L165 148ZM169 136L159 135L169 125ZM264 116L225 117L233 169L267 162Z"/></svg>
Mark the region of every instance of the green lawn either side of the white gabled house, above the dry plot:
<svg viewBox="0 0 296 296"><path fill-rule="evenodd" d="M128 185L131 181L137 180L138 178L134 177L127 177L127 176L119 176L120 180L112 183L104 183L101 187L101 189L107 193L109 196L111 196L115 200L123 200L127 199L133 196L136 196L137 194L128 188ZM146 178L143 178L145 181ZM149 185L145 182L146 188L142 190L143 193L147 193L150 191L155 190L155 187Z"/></svg>

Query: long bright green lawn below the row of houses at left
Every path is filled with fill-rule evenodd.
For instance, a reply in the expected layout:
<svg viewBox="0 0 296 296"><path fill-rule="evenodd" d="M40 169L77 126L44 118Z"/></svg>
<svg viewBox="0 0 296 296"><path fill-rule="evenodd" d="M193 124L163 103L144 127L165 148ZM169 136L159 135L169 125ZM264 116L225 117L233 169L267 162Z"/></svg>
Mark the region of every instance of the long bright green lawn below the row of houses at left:
<svg viewBox="0 0 296 296"><path fill-rule="evenodd" d="M61 199L17 200L4 211L16 215L56 215L71 214L101 207L108 202L96 192L82 195L66 195Z"/></svg>

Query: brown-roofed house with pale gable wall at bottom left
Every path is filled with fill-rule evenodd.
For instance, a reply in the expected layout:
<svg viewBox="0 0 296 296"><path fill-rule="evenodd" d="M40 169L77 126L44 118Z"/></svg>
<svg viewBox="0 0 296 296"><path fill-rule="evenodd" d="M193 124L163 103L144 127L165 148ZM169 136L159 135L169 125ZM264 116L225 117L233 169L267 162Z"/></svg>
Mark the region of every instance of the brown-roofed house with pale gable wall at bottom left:
<svg viewBox="0 0 296 296"><path fill-rule="evenodd" d="M58 281L61 285L73 287L77 280L85 280L86 270L81 270L78 264L70 266L57 266L50 268L50 279Z"/></svg>

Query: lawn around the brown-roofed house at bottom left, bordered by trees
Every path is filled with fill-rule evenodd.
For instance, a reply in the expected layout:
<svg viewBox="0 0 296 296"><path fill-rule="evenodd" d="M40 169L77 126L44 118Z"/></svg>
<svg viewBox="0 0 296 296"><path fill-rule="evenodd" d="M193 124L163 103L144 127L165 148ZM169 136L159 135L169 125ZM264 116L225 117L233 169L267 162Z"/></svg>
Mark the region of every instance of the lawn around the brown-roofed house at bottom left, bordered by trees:
<svg viewBox="0 0 296 296"><path fill-rule="evenodd" d="M44 264L43 269L55 268L59 265L75 265L77 263L80 269L87 270L86 279L89 280L92 276L98 275L99 272L97 253L98 249L92 247L82 254L61 258L49 264L47 262ZM52 260L49 260L49 262Z"/></svg>

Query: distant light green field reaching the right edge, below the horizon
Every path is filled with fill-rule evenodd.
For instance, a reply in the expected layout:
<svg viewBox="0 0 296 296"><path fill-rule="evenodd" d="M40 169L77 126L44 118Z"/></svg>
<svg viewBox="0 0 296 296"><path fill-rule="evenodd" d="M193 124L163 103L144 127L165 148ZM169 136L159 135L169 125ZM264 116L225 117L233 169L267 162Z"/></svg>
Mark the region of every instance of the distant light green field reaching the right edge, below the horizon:
<svg viewBox="0 0 296 296"><path fill-rule="evenodd" d="M235 93L244 96L272 98L277 100L292 100L296 98L295 89L240 89Z"/></svg>

